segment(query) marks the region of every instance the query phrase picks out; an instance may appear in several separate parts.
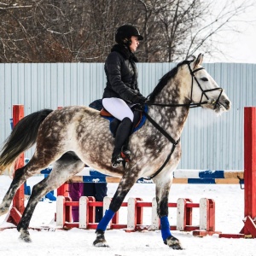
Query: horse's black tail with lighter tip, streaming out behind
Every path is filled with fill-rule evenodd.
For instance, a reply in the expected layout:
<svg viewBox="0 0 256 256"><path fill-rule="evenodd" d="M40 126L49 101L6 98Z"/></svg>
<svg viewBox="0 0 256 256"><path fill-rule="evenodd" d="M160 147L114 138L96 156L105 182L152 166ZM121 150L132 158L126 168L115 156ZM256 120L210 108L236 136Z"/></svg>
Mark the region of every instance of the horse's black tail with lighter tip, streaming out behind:
<svg viewBox="0 0 256 256"><path fill-rule="evenodd" d="M36 143L38 129L44 119L53 112L43 109L20 119L9 137L5 140L0 154L0 174L15 163L17 157Z"/></svg>

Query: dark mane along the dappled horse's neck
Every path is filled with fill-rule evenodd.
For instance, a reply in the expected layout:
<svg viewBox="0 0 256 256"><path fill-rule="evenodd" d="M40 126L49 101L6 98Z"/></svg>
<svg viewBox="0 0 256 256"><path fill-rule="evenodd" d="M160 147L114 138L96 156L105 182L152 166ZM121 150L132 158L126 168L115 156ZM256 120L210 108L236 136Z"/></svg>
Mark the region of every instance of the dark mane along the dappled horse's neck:
<svg viewBox="0 0 256 256"><path fill-rule="evenodd" d="M178 68L183 66L184 64L190 64L191 62L192 61L185 60L185 61L177 63L176 67L173 67L171 71L166 73L160 79L159 83L154 87L154 90L149 94L148 101L149 102L154 102L154 98L159 95L160 91L163 90L163 88L166 86L168 81L176 76Z"/></svg>

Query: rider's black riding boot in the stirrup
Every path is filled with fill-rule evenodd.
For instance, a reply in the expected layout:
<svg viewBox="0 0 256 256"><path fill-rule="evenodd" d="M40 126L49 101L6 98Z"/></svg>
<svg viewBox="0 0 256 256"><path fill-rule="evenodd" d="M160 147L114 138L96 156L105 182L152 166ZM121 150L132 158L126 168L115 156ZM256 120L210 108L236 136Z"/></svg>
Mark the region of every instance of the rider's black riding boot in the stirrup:
<svg viewBox="0 0 256 256"><path fill-rule="evenodd" d="M129 161L131 151L127 148L122 148L127 144L127 139L131 134L132 122L131 119L125 118L119 124L115 134L114 148L112 154L112 166L114 168L120 166L123 160Z"/></svg>

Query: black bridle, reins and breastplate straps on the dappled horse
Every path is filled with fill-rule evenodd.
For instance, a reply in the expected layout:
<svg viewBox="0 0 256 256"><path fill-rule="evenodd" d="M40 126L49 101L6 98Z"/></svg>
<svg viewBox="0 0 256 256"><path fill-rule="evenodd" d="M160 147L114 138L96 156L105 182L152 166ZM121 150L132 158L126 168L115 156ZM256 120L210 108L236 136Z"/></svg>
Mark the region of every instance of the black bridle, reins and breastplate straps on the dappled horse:
<svg viewBox="0 0 256 256"><path fill-rule="evenodd" d="M195 77L195 73L200 71L201 69L204 69L204 67L199 67L199 68L196 68L195 70L192 70L191 67L190 67L190 63L192 61L185 61L185 64L188 65L189 67L189 73L191 75L191 92L190 92L190 100L189 100L189 103L187 104L160 104L160 103L150 103L150 102L146 102L145 105L154 105L154 106L160 106L160 107L189 107L189 108L197 108L197 107L201 107L202 105L205 105L205 104L209 104L209 97L207 96L207 92L208 91L212 91L212 90L220 90L220 93L218 95L218 98L217 100L212 100L212 102L210 102L212 105L213 105L213 109L216 108L218 102L219 102L219 98L220 96L222 95L222 92L223 92L223 89L220 88L220 87L217 87L217 88L214 88L214 89L208 89L208 90L203 90L202 87L201 87L201 84L199 83L198 79L196 79ZM201 89L201 100L200 102L193 102L192 100L192 96L193 96L193 87L194 87L194 79L195 79L195 82L196 84L199 86L199 88ZM207 98L207 102L202 102L202 98L203 96L206 96ZM138 111L142 111L142 109L136 109ZM146 113L144 110L143 110L143 114L146 116L146 118L148 119L148 121L154 125L154 127L160 131L167 139L170 143L172 143L172 149L170 151L170 153L167 155L167 158L165 160L165 162L163 163L162 166L160 166L160 168L158 169L158 171L154 172L153 175L149 176L149 177L144 177L144 179L146 180L150 180L154 177L156 177L163 169L164 167L166 166L166 164L169 162L169 160L171 159L171 156L177 146L177 144L180 142L180 138L177 139L177 141L175 141L172 136L170 136L159 124L157 124L154 119L152 119L148 113Z"/></svg>

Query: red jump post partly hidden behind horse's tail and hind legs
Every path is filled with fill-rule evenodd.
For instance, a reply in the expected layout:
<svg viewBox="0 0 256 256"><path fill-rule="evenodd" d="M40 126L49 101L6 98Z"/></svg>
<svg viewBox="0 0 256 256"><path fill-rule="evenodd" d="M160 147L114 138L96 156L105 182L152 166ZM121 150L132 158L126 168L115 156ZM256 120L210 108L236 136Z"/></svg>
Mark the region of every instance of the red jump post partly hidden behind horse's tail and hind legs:
<svg viewBox="0 0 256 256"><path fill-rule="evenodd" d="M13 123L14 126L23 119L24 117L24 106L23 105L14 105L13 106ZM24 166L24 153L20 154L19 159L15 162L15 170ZM15 171L16 172L16 171ZM17 225L20 222L22 213L24 212L24 184L20 186L20 189L17 190L13 206L9 213L8 222Z"/></svg>

